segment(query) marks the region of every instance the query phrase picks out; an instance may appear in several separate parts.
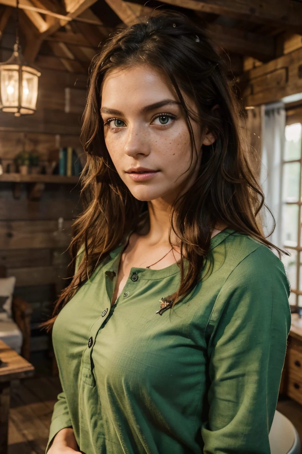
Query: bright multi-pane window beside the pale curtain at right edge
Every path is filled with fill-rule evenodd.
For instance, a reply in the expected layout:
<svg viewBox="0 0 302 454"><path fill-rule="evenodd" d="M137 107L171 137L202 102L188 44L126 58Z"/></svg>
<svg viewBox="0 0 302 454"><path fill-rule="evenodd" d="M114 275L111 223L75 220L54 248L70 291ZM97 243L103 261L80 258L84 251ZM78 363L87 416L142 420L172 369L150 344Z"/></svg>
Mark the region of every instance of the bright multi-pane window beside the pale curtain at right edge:
<svg viewBox="0 0 302 454"><path fill-rule="evenodd" d="M285 127L282 187L282 242L291 256L283 256L292 291L289 303L302 306L302 124Z"/></svg>

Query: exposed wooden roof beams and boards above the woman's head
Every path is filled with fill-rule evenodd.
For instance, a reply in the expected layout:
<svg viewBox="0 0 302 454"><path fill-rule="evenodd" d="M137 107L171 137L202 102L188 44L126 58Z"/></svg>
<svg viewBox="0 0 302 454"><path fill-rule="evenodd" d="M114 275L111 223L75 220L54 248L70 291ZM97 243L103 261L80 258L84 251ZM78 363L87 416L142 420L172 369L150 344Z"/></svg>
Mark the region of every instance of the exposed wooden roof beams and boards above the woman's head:
<svg viewBox="0 0 302 454"><path fill-rule="evenodd" d="M96 1L102 4L99 9L93 6ZM141 20L149 15L159 0L150 0L148 5L152 8L145 6L143 0L136 1L141 3L124 0L19 0L19 7L23 10L20 25L26 37L24 54L29 61L34 61L45 40L50 53L39 55L39 61L48 64L58 59L61 68L86 72L99 44L108 38L116 25L129 26ZM6 5L0 14L1 37L16 0L0 0L0 4ZM172 9L193 10L216 44L230 52L231 61L236 62L238 68L242 56L259 64L279 56L280 42L282 44L286 30L287 35L297 31L302 34L302 2L295 0L164 0L164 4ZM113 26L106 23L110 22L108 11L116 18Z"/></svg>

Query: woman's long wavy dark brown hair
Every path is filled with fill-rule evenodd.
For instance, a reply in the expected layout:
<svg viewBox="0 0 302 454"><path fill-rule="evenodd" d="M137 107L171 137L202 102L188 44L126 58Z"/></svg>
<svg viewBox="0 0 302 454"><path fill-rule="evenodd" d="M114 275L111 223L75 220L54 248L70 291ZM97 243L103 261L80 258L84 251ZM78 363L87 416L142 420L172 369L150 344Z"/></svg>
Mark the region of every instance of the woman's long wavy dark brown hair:
<svg viewBox="0 0 302 454"><path fill-rule="evenodd" d="M153 12L148 20L111 35L91 64L81 133L87 154L82 173L85 210L74 222L72 263L80 250L82 254L71 283L58 298L53 318L44 324L48 329L96 266L127 233L135 231L146 209L145 202L134 198L115 170L105 145L100 114L106 74L140 64L159 69L173 84L190 133L192 158L196 148L190 118L206 125L217 138L213 146L202 147L196 180L171 208L171 228L179 238L181 250L181 283L168 296L174 300L173 305L196 285L217 222L274 247L265 239L261 227L259 213L264 194L249 163L250 150L242 126L244 113L234 94L234 84L226 75L224 60L201 26L187 16L167 10ZM195 100L198 118L188 109L182 91ZM218 116L211 110L216 104L220 106Z"/></svg>

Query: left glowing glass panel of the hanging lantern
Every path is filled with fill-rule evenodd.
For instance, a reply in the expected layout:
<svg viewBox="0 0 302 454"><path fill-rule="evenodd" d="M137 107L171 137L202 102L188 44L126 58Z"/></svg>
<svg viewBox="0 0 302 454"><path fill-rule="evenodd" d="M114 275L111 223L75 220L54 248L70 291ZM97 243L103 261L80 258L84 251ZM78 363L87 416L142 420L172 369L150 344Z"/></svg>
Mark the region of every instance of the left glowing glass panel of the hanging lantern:
<svg viewBox="0 0 302 454"><path fill-rule="evenodd" d="M4 112L14 112L14 110L6 110L5 107L18 107L19 104L19 71L17 69L0 68L0 90L1 101Z"/></svg>

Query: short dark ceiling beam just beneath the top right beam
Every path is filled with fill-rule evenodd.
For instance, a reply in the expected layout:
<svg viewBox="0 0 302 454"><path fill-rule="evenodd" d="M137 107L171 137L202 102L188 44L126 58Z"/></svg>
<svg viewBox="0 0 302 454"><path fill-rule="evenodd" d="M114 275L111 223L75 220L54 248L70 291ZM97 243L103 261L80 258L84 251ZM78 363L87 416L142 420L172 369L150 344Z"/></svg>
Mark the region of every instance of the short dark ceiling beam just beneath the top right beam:
<svg viewBox="0 0 302 454"><path fill-rule="evenodd" d="M275 42L270 36L257 35L217 24L206 24L211 39L223 49L249 55L260 61L275 58Z"/></svg>

